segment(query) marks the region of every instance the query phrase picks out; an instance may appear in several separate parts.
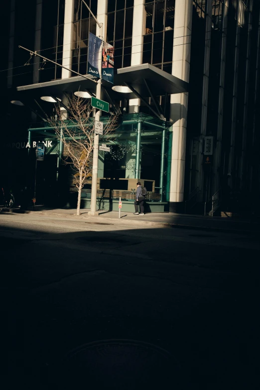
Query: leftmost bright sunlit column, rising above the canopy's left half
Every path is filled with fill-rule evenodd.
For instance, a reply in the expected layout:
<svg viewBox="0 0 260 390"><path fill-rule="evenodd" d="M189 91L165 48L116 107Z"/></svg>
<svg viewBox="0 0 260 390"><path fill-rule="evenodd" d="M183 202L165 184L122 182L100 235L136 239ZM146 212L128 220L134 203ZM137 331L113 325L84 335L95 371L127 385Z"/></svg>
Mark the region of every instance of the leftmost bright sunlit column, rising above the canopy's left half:
<svg viewBox="0 0 260 390"><path fill-rule="evenodd" d="M73 14L74 0L65 0L62 65L69 69L72 64ZM71 77L71 72L62 68L61 78L68 79L69 77Z"/></svg>

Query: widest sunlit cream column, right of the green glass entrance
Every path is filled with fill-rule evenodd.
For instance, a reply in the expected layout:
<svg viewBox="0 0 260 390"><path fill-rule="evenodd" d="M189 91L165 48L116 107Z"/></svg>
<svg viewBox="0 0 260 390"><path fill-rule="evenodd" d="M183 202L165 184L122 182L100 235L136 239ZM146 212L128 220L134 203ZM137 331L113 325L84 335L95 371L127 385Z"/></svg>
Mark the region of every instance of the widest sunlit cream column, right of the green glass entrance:
<svg viewBox="0 0 260 390"><path fill-rule="evenodd" d="M192 0L176 0L172 74L186 82L190 71L191 22ZM169 198L173 203L183 202L188 94L171 95L170 103L173 136Z"/></svg>

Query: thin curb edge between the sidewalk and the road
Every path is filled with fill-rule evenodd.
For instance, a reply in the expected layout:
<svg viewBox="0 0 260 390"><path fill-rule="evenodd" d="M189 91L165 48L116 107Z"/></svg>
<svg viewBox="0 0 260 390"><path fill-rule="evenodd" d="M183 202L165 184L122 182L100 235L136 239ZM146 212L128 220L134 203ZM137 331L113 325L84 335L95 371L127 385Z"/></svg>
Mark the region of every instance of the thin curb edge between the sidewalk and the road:
<svg viewBox="0 0 260 390"><path fill-rule="evenodd" d="M89 216L85 216L85 215L79 215L79 216L76 216L75 214L61 214L61 213L51 213L51 212L45 212L45 211L33 211L33 210L19 210L19 209L0 209L0 214L10 214L10 213L13 213L13 214L43 214L43 215L55 215L55 216L59 216L59 217L69 217L69 218L80 218L80 219L89 219L91 221L96 221L96 217L89 217ZM133 220L127 220L127 219L117 219L117 218L110 218L110 217L102 217L101 215L99 216L99 219L101 219L103 221L110 221L110 222L118 222L118 223L125 223L127 222L127 224L136 224L136 221L133 221ZM226 228L212 228L212 227L209 227L209 226L194 226L194 225L184 225L184 224L174 224L174 223L167 223L167 222L153 222L153 221L140 221L138 220L137 222L139 225L145 225L145 226L158 226L158 227L162 227L162 228L179 228L179 229L187 229L187 230L201 230L201 231L207 231L207 230L210 230L211 232L226 232L226 233L235 233L235 234L246 234L246 235L251 235L251 234L254 234L254 233L257 233L258 231L254 231L254 230L239 230L239 229L226 229Z"/></svg>

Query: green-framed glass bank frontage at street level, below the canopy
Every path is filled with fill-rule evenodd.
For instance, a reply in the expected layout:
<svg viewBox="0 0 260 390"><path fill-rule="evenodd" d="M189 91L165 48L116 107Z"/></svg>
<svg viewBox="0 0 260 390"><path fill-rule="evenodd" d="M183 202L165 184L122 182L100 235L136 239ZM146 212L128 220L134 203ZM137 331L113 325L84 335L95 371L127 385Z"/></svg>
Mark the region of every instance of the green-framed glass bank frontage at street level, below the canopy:
<svg viewBox="0 0 260 390"><path fill-rule="evenodd" d="M106 120L107 117L101 118L101 121ZM64 164L66 150L56 138L54 129L42 122L33 124L28 133L27 147L31 153L31 164L34 164L33 149L36 142L45 144L44 160L37 163L37 199L44 202L48 192L53 192L53 196L58 197L63 206L75 207L75 171ZM100 144L110 147L110 152L99 150L98 210L118 210L121 197L123 210L133 211L137 180L148 192L146 212L168 210L171 161L169 123L142 113L126 114L115 131L100 139ZM82 208L90 208L90 198L91 178L84 183Z"/></svg>

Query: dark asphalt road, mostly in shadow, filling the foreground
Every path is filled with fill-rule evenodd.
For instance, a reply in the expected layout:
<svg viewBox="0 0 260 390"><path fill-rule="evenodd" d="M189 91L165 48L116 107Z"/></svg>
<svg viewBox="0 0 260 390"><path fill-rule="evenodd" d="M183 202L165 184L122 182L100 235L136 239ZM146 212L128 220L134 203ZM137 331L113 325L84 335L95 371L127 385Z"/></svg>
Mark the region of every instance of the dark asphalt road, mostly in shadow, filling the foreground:
<svg viewBox="0 0 260 390"><path fill-rule="evenodd" d="M10 214L0 245L7 389L259 388L257 234Z"/></svg>

